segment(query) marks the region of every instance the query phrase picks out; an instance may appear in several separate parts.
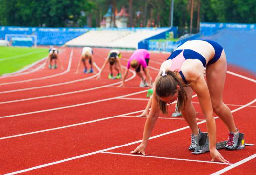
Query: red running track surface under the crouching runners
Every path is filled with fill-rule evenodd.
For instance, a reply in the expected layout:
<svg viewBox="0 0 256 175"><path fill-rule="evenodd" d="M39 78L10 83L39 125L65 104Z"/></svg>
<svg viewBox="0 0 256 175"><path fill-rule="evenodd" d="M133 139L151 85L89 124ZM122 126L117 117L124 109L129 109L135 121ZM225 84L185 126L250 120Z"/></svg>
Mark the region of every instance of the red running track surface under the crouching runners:
<svg viewBox="0 0 256 175"><path fill-rule="evenodd" d="M94 49L98 67L108 51ZM64 70L44 69L0 79L0 174L211 174L229 166L225 174L255 173L256 159L244 161L256 154L255 146L220 150L232 165L208 162L209 153L192 155L188 151L190 130L183 118L168 115L158 119L152 133L158 137L149 141L148 156L132 156L129 152L140 143L146 120L132 116L140 114L147 104L146 92L142 92L147 88L138 87L140 80L131 72L126 87L118 88L120 80L107 79L108 67L100 80L95 74L75 74L80 52L80 48L63 50ZM131 54L122 52L123 58ZM167 57L151 54L152 77ZM125 66L127 60L121 62ZM234 66L228 70L256 78ZM231 110L238 109L255 100L255 89L252 80L227 74L224 102ZM196 97L193 102L199 112L198 122L202 122ZM169 108L172 111L173 106ZM255 143L256 102L233 115L245 141ZM220 119L216 123L217 140L226 140L227 128ZM205 123L200 128L206 131ZM245 163L236 166L241 160Z"/></svg>

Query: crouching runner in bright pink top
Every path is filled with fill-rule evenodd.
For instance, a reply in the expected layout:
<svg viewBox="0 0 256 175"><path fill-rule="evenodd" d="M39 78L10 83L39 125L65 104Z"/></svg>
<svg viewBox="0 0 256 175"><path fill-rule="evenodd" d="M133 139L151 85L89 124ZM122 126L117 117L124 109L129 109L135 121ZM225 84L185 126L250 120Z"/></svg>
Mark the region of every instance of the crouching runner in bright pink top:
<svg viewBox="0 0 256 175"><path fill-rule="evenodd" d="M123 76L123 82L119 87L124 87L125 79L128 74L128 70L130 67L135 69L136 74L141 78L140 87L152 87L151 77L149 74L148 69L148 63L149 63L149 52L146 49L137 49L134 51L134 53L131 55L131 57L128 60L126 71ZM142 66L142 69L145 73L144 75L140 72L140 67ZM147 81L146 81L147 79Z"/></svg>

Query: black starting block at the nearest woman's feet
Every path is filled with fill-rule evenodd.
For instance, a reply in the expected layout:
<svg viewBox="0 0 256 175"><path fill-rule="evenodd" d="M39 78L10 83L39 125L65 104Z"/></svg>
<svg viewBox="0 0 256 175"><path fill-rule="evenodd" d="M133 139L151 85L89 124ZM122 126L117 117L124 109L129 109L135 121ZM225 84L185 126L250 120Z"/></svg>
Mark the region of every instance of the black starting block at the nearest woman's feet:
<svg viewBox="0 0 256 175"><path fill-rule="evenodd" d="M216 143L216 149L224 149L227 141L222 141L222 142L217 142ZM254 144L246 144L244 140L244 134L240 133L239 138L238 138L238 147L236 148L237 150L239 149L244 149L245 146L254 146ZM192 152L192 154L202 154L205 152L209 152L209 138L208 138L208 133L203 132L202 137L199 140L199 146L195 148L195 151Z"/></svg>

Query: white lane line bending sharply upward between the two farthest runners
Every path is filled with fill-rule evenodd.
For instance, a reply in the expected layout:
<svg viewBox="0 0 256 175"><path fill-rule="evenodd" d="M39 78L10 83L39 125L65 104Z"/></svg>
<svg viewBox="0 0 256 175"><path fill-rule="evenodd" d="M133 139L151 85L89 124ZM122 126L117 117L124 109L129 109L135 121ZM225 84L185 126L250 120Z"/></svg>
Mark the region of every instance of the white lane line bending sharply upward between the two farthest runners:
<svg viewBox="0 0 256 175"><path fill-rule="evenodd" d="M40 77L40 78L33 78L33 79L28 79L28 80L16 81L16 82L1 83L0 85L10 85L10 84L31 82L31 81L35 81L35 80L43 80L43 79L47 79L47 78L52 78L52 77L57 77L57 76L60 76L60 75L64 75L64 74L66 74L66 73L68 73L70 71L72 58L73 58L73 49L71 50L71 53L70 53L67 70L64 71L64 72L61 72L61 73L58 73L58 74L54 74L54 75L50 75L50 76ZM13 90L10 90L10 92L12 92L12 91ZM5 91L5 93L8 93L8 91Z"/></svg>

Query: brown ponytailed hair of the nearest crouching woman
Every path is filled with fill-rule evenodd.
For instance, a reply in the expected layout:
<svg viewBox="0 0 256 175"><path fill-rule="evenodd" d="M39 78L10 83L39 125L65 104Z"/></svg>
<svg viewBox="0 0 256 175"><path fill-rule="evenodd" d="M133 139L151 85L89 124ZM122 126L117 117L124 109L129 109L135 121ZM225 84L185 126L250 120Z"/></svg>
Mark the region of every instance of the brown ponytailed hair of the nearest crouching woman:
<svg viewBox="0 0 256 175"><path fill-rule="evenodd" d="M160 100L159 97L169 97L171 95L174 95L176 91L178 91L177 110L181 111L185 108L185 101L187 101L188 97L184 90L184 87L187 87L189 85L184 84L176 75L177 73L178 72L166 70L164 76L162 76L161 72L160 77L156 79L157 103L163 114L167 114L167 104L165 101ZM180 89L177 89L177 85L180 86Z"/></svg>

